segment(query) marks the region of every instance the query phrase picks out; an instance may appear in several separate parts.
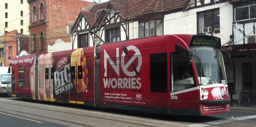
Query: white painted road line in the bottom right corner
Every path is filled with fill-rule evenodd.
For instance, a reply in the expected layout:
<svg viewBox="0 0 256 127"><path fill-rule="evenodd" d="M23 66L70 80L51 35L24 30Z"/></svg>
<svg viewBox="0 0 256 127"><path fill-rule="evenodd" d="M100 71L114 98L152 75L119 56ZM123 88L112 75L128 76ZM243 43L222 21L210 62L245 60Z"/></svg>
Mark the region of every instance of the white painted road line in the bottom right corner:
<svg viewBox="0 0 256 127"><path fill-rule="evenodd" d="M255 119L256 115L251 115L251 116L243 116L243 117L234 117L234 118L229 118L225 120L215 120L215 121L210 121L210 122L204 122L204 123L195 123L192 125L188 125L189 127L205 127L205 126L210 126L210 125L218 125L221 123L226 123L226 122L232 122L232 121L240 121L240 120L247 120L247 119Z"/></svg>

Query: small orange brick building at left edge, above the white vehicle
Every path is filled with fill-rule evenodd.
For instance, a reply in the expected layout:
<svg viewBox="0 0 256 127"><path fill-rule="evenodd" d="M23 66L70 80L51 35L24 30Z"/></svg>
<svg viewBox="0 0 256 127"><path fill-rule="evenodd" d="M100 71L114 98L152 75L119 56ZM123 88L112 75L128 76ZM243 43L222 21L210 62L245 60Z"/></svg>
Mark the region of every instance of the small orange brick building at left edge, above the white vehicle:
<svg viewBox="0 0 256 127"><path fill-rule="evenodd" d="M0 37L2 38L1 40L4 41L3 36ZM16 58L17 55L19 55L19 52L21 52L22 50L27 50L28 49L28 42L29 41L29 37L27 35L23 35L21 33L18 33L18 30L13 30L10 32L5 33L5 48L6 52L5 52L5 58L4 55L1 56L2 59L5 59L5 66L9 66L11 60L8 59L10 56L10 58ZM20 43L18 43L20 42ZM19 46L20 44L20 46ZM3 44L1 44L3 45ZM20 47L20 50L18 50L18 47ZM2 49L1 48L1 49ZM0 61L3 63L3 61Z"/></svg>

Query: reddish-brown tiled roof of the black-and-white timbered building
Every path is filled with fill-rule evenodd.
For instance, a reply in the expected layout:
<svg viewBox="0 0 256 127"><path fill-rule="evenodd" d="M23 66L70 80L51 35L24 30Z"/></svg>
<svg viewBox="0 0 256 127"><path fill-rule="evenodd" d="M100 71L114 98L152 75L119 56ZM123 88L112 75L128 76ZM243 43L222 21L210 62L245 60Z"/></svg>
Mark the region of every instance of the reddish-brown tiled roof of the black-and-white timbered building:
<svg viewBox="0 0 256 127"><path fill-rule="evenodd" d="M110 0L94 5L89 12L82 12L92 26L95 13L101 9L113 7L119 11L124 20L134 19L146 14L181 9L188 5L190 0ZM97 18L100 13L97 13Z"/></svg>

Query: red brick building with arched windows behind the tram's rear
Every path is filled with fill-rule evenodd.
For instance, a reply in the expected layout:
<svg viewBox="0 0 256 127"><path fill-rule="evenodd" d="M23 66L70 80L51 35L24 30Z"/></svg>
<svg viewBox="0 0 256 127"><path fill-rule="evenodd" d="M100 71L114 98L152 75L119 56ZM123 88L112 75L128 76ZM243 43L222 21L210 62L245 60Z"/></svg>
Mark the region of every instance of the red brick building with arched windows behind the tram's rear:
<svg viewBox="0 0 256 127"><path fill-rule="evenodd" d="M47 53L60 38L71 42L68 34L69 25L76 21L81 10L86 10L91 2L84 0L27 0L30 13L30 54ZM50 39L55 38L55 39Z"/></svg>

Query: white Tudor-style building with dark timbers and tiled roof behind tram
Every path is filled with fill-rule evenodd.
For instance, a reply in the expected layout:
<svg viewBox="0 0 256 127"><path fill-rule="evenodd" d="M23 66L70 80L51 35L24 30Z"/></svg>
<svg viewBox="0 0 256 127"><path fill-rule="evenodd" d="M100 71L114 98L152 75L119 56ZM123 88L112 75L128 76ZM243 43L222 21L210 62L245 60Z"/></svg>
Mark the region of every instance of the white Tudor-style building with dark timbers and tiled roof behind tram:
<svg viewBox="0 0 256 127"><path fill-rule="evenodd" d="M114 13L98 12L95 20L96 12L102 9L119 13L106 23ZM205 34L203 28L212 28L210 32L226 43L232 35L232 17L227 0L110 0L79 13L71 29L71 47L95 46L95 39L96 44L102 44L155 35ZM98 21L95 26L94 20ZM90 35L92 27L100 39Z"/></svg>

